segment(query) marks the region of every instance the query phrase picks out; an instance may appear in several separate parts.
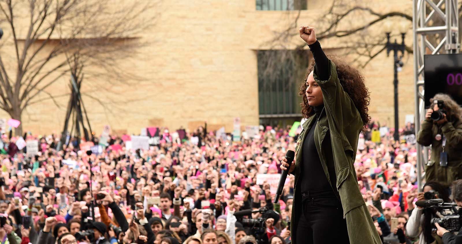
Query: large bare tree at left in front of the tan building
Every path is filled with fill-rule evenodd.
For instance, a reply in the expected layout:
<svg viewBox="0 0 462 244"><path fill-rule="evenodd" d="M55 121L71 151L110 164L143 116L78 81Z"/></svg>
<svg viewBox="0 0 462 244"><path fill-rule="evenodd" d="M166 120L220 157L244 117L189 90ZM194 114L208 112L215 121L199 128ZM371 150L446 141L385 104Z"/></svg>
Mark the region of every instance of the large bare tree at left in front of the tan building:
<svg viewBox="0 0 462 244"><path fill-rule="evenodd" d="M92 67L86 78L134 80L120 63L144 45L140 33L154 24L159 1L0 0L0 24L8 26L0 43L0 109L21 120L28 106L43 101L39 95L55 101L47 88L82 75L83 67Z"/></svg>

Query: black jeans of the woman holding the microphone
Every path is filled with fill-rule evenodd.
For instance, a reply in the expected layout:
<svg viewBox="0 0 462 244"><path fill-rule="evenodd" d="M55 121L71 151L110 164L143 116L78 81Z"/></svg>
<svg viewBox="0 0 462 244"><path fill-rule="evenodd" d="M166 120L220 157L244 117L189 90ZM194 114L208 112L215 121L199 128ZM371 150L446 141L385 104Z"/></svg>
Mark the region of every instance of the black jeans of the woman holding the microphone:
<svg viewBox="0 0 462 244"><path fill-rule="evenodd" d="M349 244L343 209L334 192L302 191L302 211L297 222L297 243Z"/></svg>

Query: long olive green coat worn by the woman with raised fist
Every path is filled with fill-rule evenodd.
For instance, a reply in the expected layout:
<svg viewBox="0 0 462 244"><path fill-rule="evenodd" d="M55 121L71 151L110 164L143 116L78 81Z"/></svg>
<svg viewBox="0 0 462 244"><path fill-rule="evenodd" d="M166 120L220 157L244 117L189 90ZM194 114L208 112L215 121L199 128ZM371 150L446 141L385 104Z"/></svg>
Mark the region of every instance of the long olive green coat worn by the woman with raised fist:
<svg viewBox="0 0 462 244"><path fill-rule="evenodd" d="M335 166L336 183L331 183L331 185L340 198L343 207L343 216L346 219L350 243L381 244L382 242L372 222L371 215L359 191L358 180L353 166L363 122L359 111L353 104L353 100L340 85L335 64L332 61L329 61L329 63L330 77L328 80L317 79L316 69L314 73L314 78L322 90L324 110L319 117L319 122L316 122L316 116L311 116L304 122L303 130L298 137L295 148L296 155L301 155L299 151L303 148L307 131L311 126L316 126L314 133L316 149L328 179L327 164L334 164ZM330 132L331 144L323 143L327 132ZM296 157L295 170L293 171L295 186L291 218L292 244L297 244L297 222L298 218L303 214L302 198L297 185L301 173L300 164L302 164L301 156ZM332 231L332 234L335 235L335 230ZM298 244L303 243L298 241Z"/></svg>

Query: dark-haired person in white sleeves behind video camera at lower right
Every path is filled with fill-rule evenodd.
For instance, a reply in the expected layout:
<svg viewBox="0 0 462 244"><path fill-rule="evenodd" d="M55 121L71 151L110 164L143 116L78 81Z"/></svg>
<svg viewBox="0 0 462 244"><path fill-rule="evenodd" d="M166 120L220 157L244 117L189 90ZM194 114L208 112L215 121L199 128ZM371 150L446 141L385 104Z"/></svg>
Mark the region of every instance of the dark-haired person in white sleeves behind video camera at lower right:
<svg viewBox="0 0 462 244"><path fill-rule="evenodd" d="M423 192L417 195L417 201L441 198L444 202L450 202L446 187L438 182L427 182L422 190ZM440 238L432 232L431 220L434 217L436 217L436 210L415 207L407 221L406 235L411 238L419 237L419 244L433 243L436 239L439 241L438 243L441 243Z"/></svg>

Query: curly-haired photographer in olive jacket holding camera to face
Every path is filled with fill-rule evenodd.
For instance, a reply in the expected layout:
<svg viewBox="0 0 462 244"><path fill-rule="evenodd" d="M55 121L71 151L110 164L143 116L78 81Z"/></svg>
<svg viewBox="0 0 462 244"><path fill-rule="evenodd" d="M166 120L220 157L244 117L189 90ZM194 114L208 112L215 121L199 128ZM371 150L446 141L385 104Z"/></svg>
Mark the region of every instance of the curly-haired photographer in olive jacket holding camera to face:
<svg viewBox="0 0 462 244"><path fill-rule="evenodd" d="M446 94L430 99L417 142L432 145L432 157L426 164L426 181L436 180L448 185L462 178L462 108Z"/></svg>

